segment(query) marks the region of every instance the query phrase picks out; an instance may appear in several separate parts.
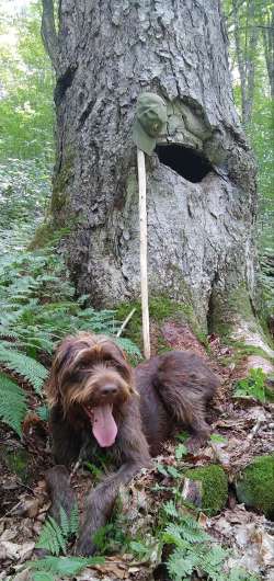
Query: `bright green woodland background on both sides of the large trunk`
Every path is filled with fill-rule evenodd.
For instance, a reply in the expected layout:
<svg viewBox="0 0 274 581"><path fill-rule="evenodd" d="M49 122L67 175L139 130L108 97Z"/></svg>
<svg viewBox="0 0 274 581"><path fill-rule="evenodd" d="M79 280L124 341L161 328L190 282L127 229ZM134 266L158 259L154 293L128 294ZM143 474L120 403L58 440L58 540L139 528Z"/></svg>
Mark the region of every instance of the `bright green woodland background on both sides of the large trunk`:
<svg viewBox="0 0 274 581"><path fill-rule="evenodd" d="M224 0L236 104L259 164L258 241L273 307L273 3ZM47 209L54 162L54 76L41 41L39 2L1 2L1 246L30 242ZM272 286L273 288L273 286Z"/></svg>

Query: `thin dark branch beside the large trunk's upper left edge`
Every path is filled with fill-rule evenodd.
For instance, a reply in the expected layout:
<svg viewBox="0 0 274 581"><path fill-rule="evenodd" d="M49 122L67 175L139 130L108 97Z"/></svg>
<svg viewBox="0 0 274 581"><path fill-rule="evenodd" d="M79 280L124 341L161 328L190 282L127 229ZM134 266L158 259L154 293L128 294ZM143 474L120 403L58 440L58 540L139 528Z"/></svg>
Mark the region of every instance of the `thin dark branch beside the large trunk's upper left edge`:
<svg viewBox="0 0 274 581"><path fill-rule="evenodd" d="M56 71L59 69L60 50L55 27L54 3L53 0L42 0L42 26L41 35L45 49L53 62Z"/></svg>

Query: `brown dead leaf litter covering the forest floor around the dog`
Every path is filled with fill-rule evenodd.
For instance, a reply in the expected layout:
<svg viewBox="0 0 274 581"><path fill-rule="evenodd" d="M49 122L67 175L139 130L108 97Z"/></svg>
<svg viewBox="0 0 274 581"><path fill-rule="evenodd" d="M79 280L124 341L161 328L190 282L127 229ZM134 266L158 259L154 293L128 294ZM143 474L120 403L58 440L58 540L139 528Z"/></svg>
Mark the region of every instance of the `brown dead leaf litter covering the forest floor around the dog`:
<svg viewBox="0 0 274 581"><path fill-rule="evenodd" d="M201 512L198 521L222 546L233 549L230 558L235 567L244 567L258 574L259 579L273 581L274 523L262 514L248 511L242 504L238 504L233 485L236 475L253 457L273 452L273 407L251 398L232 397L232 386L247 375L247 360L243 358L238 365L231 363L231 348L221 344L217 335L208 338L209 355L186 327L179 328L176 323L169 323L165 335L169 337L170 346L194 350L219 375L221 387L210 414L213 433L222 437L210 440L197 455L189 454L180 462L175 456L178 442L169 442L162 456L156 458L155 468L145 470L135 478L124 498L122 493L119 510L129 523L127 533L129 531L134 538L140 523L145 522L146 526L150 523L151 527L156 522L163 501L169 498L168 490L172 487L172 476L163 467L173 466L179 470L217 463L228 475L228 503L222 512L214 517ZM23 432L24 437L20 442L7 426L2 425L0 430L0 579L3 580L31 579L27 570L22 571L22 563L37 555L35 542L49 508L43 479L45 470L52 465L48 429L46 422L35 413L35 400ZM159 466L163 469L159 470ZM72 477L80 506L91 481L91 472L83 467ZM115 552L114 548L111 555L106 551L103 565L87 568L73 579L140 581L168 580L169 577L161 566L159 567L156 547L155 551L149 552L149 557L142 555L139 558L128 551Z"/></svg>

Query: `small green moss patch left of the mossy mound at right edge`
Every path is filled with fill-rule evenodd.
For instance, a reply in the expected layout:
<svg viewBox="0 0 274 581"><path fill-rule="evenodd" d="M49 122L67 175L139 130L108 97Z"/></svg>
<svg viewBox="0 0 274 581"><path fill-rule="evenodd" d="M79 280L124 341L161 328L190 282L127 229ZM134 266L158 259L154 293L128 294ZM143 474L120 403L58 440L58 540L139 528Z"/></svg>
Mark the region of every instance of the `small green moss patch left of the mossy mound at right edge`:
<svg viewBox="0 0 274 581"><path fill-rule="evenodd" d="M210 516L219 513L227 503L228 481L225 470L216 465L186 470L184 476L202 482L202 509Z"/></svg>

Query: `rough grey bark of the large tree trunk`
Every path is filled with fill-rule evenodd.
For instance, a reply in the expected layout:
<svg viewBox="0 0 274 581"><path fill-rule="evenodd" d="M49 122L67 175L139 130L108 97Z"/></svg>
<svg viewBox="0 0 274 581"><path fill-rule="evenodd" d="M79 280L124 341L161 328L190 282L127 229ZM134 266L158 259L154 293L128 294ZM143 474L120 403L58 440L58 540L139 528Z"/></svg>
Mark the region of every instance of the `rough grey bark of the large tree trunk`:
<svg viewBox="0 0 274 581"><path fill-rule="evenodd" d="M150 296L192 304L204 328L254 326L255 164L219 2L61 0L58 35L52 1L43 4L57 75L52 214L70 227L65 252L79 293L96 307L139 296L132 127L149 90L169 115L167 138L147 157Z"/></svg>

